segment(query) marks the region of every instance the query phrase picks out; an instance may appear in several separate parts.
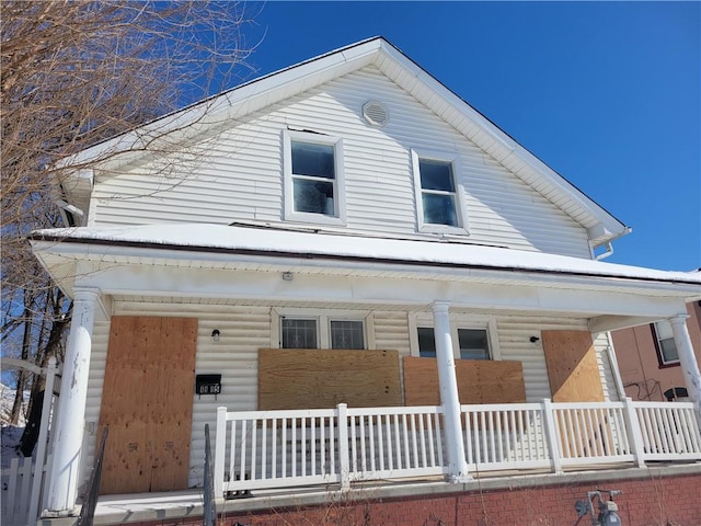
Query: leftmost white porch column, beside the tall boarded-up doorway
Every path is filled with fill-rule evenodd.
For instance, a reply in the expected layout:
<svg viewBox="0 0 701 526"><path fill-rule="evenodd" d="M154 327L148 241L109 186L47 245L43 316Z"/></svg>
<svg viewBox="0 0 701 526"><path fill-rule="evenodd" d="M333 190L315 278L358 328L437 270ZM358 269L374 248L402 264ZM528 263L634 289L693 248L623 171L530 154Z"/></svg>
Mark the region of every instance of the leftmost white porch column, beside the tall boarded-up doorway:
<svg viewBox="0 0 701 526"><path fill-rule="evenodd" d="M70 334L58 398L58 418L54 424L54 461L48 481L47 511L44 516L69 516L76 506L80 454L83 443L88 371L92 344L96 288L76 288Z"/></svg>

